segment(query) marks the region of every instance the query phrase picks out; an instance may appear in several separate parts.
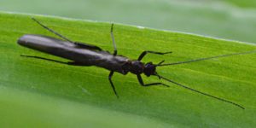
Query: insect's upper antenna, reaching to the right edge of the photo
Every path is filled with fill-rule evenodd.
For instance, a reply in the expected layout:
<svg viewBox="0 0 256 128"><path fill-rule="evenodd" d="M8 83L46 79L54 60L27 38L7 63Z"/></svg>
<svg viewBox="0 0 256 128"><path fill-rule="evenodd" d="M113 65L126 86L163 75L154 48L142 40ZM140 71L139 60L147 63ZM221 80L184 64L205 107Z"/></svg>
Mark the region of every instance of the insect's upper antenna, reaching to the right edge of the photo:
<svg viewBox="0 0 256 128"><path fill-rule="evenodd" d="M212 56L212 57L207 57L207 58L199 58L199 59L190 60L190 61L178 61L178 62L173 62L173 63L160 64L157 66L163 67L163 66L170 66L170 65L179 65L179 64L195 62L195 61L204 61L204 60L211 60L211 59L215 59L215 58L228 57L228 56L232 56L232 55L246 55L246 54L252 54L252 53L256 53L256 50L233 53L233 54L228 54L228 55L217 55L217 56Z"/></svg>

